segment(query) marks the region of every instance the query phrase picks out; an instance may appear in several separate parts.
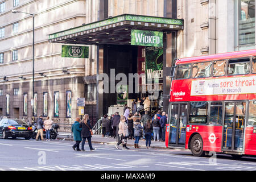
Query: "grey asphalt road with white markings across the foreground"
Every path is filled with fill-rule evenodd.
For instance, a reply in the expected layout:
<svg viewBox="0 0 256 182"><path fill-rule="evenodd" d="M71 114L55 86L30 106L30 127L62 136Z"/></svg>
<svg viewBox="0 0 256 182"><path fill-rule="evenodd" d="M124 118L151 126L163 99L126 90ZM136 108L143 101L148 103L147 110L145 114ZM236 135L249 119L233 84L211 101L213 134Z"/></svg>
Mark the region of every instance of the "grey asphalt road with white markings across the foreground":
<svg viewBox="0 0 256 182"><path fill-rule="evenodd" d="M96 151L73 151L73 141L0 138L0 171L235 171L256 170L256 158L234 160L230 155L195 157L188 150L131 148L96 144ZM121 147L120 147L121 148Z"/></svg>

